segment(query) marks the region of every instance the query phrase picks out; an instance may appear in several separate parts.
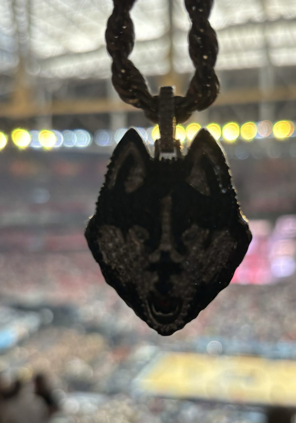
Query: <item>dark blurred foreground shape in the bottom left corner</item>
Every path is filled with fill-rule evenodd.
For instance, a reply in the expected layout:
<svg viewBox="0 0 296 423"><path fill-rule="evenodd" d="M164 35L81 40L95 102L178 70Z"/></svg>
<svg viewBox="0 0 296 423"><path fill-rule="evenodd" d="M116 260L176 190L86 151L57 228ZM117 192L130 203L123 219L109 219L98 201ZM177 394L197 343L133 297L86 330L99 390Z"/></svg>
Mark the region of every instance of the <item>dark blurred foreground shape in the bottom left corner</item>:
<svg viewBox="0 0 296 423"><path fill-rule="evenodd" d="M32 382L16 380L5 386L0 378L0 423L47 423L59 410L47 377Z"/></svg>

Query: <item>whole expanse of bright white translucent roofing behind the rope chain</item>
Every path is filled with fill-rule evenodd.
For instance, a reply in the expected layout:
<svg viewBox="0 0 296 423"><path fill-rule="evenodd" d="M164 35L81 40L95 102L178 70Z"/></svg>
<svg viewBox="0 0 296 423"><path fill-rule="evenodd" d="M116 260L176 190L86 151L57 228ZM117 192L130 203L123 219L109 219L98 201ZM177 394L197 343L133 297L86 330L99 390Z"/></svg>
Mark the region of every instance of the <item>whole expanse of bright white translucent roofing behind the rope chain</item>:
<svg viewBox="0 0 296 423"><path fill-rule="evenodd" d="M173 67L178 73L193 69L183 0L138 0L132 9L132 60L146 75L170 70L170 8ZM0 72L14 72L22 56L34 76L108 77L104 31L111 11L111 0L2 0ZM219 38L217 69L261 67L269 61L296 65L295 0L216 0L211 25Z"/></svg>

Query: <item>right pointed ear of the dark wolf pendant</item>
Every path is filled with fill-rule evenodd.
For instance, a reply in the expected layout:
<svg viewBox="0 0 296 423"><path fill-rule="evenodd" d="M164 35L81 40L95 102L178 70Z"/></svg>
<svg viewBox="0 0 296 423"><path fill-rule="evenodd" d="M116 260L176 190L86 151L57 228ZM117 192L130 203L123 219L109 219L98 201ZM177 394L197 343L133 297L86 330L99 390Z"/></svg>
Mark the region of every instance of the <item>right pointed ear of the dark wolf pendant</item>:
<svg viewBox="0 0 296 423"><path fill-rule="evenodd" d="M207 129L202 128L185 157L187 182L203 195L219 195L233 189L224 152Z"/></svg>

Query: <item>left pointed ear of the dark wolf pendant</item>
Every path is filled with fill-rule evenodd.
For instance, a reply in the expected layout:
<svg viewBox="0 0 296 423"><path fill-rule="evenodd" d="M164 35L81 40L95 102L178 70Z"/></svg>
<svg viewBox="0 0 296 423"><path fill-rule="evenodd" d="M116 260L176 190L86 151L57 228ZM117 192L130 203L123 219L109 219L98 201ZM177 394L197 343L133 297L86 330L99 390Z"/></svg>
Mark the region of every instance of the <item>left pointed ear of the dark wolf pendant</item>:
<svg viewBox="0 0 296 423"><path fill-rule="evenodd" d="M106 175L106 186L130 194L144 183L150 155L135 129L129 129L113 151Z"/></svg>

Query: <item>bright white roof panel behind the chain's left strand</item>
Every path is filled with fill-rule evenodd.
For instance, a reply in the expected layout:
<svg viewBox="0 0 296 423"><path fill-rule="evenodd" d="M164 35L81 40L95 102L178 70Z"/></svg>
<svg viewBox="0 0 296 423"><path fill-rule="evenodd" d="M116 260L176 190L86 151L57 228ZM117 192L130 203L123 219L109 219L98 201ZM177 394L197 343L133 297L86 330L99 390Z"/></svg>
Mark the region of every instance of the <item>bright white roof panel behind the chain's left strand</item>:
<svg viewBox="0 0 296 423"><path fill-rule="evenodd" d="M110 0L32 0L32 3L31 49L40 65L36 73L62 78L104 78L110 74L104 41L112 11ZM132 17L137 39L132 60L145 74L166 73L167 0L141 0L132 9ZM160 60L155 60L156 57Z"/></svg>

